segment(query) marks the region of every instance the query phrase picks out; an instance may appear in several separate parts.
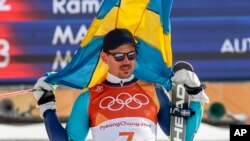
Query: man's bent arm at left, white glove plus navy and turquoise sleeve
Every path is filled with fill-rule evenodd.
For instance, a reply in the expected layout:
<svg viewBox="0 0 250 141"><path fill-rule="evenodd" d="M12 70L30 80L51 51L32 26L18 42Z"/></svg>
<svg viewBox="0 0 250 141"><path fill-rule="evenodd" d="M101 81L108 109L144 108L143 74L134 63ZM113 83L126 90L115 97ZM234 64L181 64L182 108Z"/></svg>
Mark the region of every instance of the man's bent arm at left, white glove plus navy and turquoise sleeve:
<svg viewBox="0 0 250 141"><path fill-rule="evenodd" d="M84 140L89 130L89 92L77 98L65 130L56 115L53 87L44 82L45 79L46 77L42 77L37 81L34 86L37 91L34 91L33 95L38 101L40 116L44 119L49 139L51 141Z"/></svg>

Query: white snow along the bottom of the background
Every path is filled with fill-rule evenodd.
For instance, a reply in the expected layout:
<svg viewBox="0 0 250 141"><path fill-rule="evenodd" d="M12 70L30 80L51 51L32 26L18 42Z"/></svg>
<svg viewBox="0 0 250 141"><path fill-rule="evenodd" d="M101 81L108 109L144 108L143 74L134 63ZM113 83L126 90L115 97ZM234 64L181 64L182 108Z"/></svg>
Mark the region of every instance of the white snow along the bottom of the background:
<svg viewBox="0 0 250 141"><path fill-rule="evenodd" d="M65 124L63 124L65 126ZM157 140L168 140L164 133L158 129ZM89 132L88 140L91 139ZM43 123L29 125L6 125L0 124L0 140L48 140ZM195 141L229 141L229 128L221 128L202 123Z"/></svg>

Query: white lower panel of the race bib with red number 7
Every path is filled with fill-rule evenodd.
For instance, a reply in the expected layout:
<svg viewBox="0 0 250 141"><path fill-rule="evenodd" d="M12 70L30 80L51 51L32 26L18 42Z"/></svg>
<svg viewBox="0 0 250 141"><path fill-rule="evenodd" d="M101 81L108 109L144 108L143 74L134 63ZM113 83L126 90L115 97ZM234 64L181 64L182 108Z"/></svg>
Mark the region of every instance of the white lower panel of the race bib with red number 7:
<svg viewBox="0 0 250 141"><path fill-rule="evenodd" d="M92 127L93 141L155 141L157 126L141 117L116 118Z"/></svg>

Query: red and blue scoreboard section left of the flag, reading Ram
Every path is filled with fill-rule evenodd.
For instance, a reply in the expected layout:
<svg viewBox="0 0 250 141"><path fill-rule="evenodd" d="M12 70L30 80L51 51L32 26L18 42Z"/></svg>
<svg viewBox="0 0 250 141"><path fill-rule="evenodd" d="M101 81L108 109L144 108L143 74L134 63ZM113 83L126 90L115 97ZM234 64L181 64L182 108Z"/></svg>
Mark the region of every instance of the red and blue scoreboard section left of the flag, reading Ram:
<svg viewBox="0 0 250 141"><path fill-rule="evenodd" d="M0 1L0 83L34 83L79 48L100 0Z"/></svg>

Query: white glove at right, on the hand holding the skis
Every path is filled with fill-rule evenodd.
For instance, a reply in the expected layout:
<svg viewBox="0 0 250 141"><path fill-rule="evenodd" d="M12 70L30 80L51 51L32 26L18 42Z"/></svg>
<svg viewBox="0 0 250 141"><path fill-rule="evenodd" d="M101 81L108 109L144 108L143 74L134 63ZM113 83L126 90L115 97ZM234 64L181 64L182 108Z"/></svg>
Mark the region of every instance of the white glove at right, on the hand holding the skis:
<svg viewBox="0 0 250 141"><path fill-rule="evenodd" d="M194 72L185 69L181 69L175 72L171 80L174 83L186 84L190 88L201 86L201 82L197 77L197 75ZM209 103L209 98L207 97L204 90L201 90L199 93L195 95L190 95L190 97L191 101Z"/></svg>

